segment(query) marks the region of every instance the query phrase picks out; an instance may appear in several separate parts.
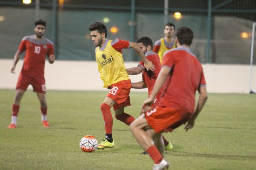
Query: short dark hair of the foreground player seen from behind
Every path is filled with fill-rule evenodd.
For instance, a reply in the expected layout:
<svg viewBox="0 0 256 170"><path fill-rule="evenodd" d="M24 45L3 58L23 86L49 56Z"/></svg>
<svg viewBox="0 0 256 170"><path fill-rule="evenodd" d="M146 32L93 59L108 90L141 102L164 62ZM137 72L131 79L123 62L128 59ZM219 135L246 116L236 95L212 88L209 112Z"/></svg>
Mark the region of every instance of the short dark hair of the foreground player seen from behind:
<svg viewBox="0 0 256 170"><path fill-rule="evenodd" d="M194 33L189 27L180 27L176 32L176 37L181 45L191 45L194 38Z"/></svg>

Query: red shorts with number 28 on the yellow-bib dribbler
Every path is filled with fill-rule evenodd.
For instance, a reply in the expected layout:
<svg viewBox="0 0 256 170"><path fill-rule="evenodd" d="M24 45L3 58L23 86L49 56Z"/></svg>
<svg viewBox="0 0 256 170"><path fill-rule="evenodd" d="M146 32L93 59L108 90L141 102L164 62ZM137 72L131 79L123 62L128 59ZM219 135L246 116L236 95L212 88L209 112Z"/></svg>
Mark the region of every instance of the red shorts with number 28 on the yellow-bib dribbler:
<svg viewBox="0 0 256 170"><path fill-rule="evenodd" d="M131 86L131 80L129 79L117 82L108 87L111 89L107 94L107 97L116 102L116 104L113 106L114 110L121 107L131 106L129 97Z"/></svg>

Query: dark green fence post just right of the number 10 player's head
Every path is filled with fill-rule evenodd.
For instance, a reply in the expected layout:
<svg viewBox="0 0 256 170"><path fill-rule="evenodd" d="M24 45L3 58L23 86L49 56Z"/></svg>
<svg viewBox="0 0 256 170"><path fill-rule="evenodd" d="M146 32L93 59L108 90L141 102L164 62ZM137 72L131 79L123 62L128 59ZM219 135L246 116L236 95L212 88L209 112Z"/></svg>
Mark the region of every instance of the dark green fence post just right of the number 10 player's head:
<svg viewBox="0 0 256 170"><path fill-rule="evenodd" d="M52 16L52 41L54 44L55 57L58 56L57 51L57 0L53 0L53 16Z"/></svg>

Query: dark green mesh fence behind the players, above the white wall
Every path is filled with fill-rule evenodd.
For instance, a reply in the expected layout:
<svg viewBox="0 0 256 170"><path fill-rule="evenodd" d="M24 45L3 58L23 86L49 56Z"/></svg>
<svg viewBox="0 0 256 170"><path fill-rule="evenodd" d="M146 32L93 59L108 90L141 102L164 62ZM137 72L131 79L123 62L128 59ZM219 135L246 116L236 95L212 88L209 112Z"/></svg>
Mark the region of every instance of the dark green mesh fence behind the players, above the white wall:
<svg viewBox="0 0 256 170"><path fill-rule="evenodd" d="M56 23L52 22L54 0L39 1L39 12L35 0L28 5L22 0L0 2L0 58L13 58L20 40L34 34L35 13L47 21L47 38L52 38L52 27L57 25L55 45L59 60L94 60L95 47L88 27L97 21L107 26L108 39L136 41L148 36L155 42L164 37L164 0L58 0ZM132 1L135 13L131 12ZM188 26L194 31L191 51L207 63L208 1L169 0L168 7L168 22L174 23L176 29ZM209 63L249 64L255 9L253 0L212 0ZM176 11L182 13L181 19L174 17ZM110 31L113 27L116 30ZM131 51L123 50L125 61L138 60Z"/></svg>

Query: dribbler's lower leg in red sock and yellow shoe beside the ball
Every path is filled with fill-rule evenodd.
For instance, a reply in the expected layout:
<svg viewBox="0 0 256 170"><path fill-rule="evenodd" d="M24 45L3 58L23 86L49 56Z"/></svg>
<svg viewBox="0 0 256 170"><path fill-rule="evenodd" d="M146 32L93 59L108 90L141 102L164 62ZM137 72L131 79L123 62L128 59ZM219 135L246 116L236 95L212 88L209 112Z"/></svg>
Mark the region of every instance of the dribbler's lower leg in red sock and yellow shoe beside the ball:
<svg viewBox="0 0 256 170"><path fill-rule="evenodd" d="M105 139L98 144L98 149L113 148L115 146L114 140L112 138L112 126L113 126L113 117L110 112L110 106L106 103L101 104L101 112L104 120L104 126L106 131Z"/></svg>

